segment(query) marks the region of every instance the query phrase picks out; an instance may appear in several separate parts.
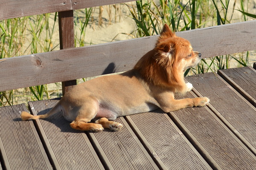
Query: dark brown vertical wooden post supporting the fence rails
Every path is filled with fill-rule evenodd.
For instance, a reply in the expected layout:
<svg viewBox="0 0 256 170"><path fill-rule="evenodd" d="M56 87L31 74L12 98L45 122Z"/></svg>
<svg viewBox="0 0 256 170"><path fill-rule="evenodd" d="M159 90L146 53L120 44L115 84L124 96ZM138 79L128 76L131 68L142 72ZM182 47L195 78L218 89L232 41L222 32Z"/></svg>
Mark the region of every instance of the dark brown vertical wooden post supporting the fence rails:
<svg viewBox="0 0 256 170"><path fill-rule="evenodd" d="M74 35L74 17L73 10L58 12L59 20L59 35L60 48L70 48L75 46ZM64 95L73 85L76 85L76 80L62 82L62 94Z"/></svg>

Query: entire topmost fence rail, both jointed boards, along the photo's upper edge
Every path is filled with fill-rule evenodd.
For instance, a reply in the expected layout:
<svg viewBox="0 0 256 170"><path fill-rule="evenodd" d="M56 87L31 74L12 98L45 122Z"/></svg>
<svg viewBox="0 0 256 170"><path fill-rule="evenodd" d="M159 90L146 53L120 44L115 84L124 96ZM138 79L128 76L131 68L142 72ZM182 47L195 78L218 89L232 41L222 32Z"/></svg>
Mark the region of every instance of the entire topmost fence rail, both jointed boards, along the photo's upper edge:
<svg viewBox="0 0 256 170"><path fill-rule="evenodd" d="M2 0L0 20L131 1L134 0Z"/></svg>

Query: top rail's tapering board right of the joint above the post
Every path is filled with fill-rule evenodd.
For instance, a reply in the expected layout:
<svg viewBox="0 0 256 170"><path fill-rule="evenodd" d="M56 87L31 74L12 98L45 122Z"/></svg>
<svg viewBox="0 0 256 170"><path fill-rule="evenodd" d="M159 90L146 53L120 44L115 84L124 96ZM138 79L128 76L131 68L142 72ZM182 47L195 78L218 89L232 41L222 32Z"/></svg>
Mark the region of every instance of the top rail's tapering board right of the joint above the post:
<svg viewBox="0 0 256 170"><path fill-rule="evenodd" d="M126 3L135 0L72 0L73 1L73 10L90 8L95 6L105 6L112 5L116 3Z"/></svg>

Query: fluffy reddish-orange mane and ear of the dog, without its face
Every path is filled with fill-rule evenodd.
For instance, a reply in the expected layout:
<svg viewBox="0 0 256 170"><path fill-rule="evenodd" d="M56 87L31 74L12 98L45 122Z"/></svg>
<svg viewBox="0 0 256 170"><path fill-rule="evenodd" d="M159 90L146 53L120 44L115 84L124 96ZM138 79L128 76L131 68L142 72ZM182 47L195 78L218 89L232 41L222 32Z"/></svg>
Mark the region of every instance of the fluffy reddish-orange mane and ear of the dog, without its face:
<svg viewBox="0 0 256 170"><path fill-rule="evenodd" d="M155 48L145 54L134 66L141 76L157 86L175 88L176 92L185 93L184 72L178 68L175 33L165 25Z"/></svg>

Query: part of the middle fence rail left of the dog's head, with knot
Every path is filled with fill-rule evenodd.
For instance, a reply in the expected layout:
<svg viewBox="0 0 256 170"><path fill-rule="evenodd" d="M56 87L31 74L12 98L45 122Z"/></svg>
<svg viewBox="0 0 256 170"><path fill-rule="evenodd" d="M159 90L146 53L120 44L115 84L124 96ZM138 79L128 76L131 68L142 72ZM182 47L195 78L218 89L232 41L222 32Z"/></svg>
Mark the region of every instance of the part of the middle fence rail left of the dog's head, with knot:
<svg viewBox="0 0 256 170"><path fill-rule="evenodd" d="M0 76L0 91L126 71L147 52L144 47L153 48L156 40L143 37L6 58L0 62L0 70L6 73Z"/></svg>

